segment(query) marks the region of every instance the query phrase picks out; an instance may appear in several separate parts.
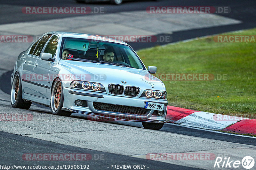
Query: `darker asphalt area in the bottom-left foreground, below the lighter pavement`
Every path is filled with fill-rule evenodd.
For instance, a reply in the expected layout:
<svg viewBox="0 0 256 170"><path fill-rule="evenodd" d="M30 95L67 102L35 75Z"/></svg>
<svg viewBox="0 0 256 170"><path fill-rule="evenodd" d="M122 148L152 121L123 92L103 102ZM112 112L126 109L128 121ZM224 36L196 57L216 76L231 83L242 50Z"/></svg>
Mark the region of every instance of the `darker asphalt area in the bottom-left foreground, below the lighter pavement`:
<svg viewBox="0 0 256 170"><path fill-rule="evenodd" d="M45 140L23 137L12 133L6 133L0 131L0 150L5 151L5 154L1 154L1 165L19 165L19 166L58 166L58 165L89 165L89 169L109 169L111 165L146 165L147 169L177 169L183 170L185 166L172 165L163 162L157 162L147 159L132 158L120 154L113 154L107 152L94 151L90 149L84 149L79 147L73 147L69 145L57 144ZM83 161L51 161L51 160L37 160L27 161L21 158L23 153L86 153L90 154L88 160ZM197 169L197 168L191 168Z"/></svg>

